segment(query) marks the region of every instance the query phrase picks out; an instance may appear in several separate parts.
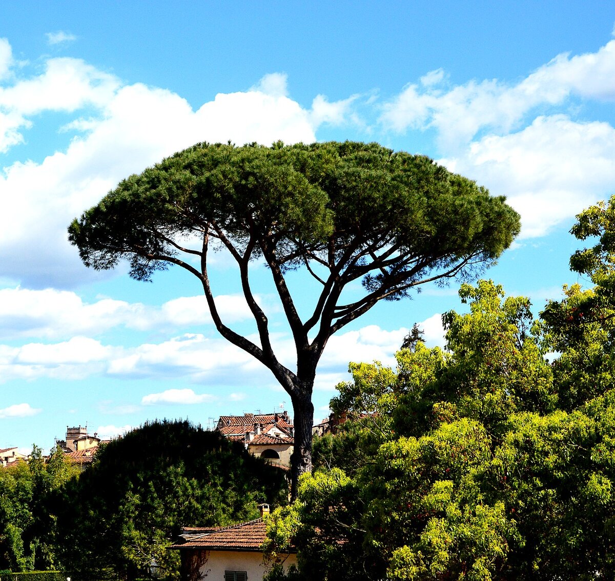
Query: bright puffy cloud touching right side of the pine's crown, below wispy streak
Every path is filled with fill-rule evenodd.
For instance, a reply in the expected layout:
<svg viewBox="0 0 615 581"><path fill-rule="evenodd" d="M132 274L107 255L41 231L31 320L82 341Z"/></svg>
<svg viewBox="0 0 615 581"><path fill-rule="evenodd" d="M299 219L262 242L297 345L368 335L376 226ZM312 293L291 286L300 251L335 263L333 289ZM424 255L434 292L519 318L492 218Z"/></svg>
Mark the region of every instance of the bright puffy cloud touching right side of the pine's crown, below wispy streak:
<svg viewBox="0 0 615 581"><path fill-rule="evenodd" d="M608 123L557 115L514 134L483 137L441 162L506 195L522 216L521 238L532 238L615 193L613 151L615 129Z"/></svg>

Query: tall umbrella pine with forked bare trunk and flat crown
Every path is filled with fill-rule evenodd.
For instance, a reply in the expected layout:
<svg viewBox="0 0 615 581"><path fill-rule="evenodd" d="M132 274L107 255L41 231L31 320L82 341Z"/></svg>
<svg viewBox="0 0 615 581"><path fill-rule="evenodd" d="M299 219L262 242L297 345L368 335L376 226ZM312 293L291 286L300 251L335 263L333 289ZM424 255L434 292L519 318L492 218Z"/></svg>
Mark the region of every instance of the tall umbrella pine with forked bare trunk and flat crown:
<svg viewBox="0 0 615 581"><path fill-rule="evenodd" d="M196 276L220 334L268 367L292 399L296 483L311 470L312 388L329 337L379 300L480 270L518 230L519 217L504 198L424 156L375 143L200 143L121 182L74 220L69 240L93 268L126 258L136 279L172 264ZM207 262L212 247L223 247L237 263L258 343L218 312ZM271 345L250 280L255 260L269 267L279 294L295 342L295 371ZM304 318L286 278L297 268L314 283L315 301ZM355 281L362 281L363 294L347 290Z"/></svg>

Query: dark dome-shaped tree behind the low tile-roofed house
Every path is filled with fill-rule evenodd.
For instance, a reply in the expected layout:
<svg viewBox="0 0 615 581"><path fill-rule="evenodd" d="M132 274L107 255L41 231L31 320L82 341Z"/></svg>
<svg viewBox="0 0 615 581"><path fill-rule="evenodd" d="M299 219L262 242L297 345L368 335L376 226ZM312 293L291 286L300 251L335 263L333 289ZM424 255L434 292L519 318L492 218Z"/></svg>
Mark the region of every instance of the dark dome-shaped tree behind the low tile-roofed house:
<svg viewBox="0 0 615 581"><path fill-rule="evenodd" d="M100 449L63 489L62 564L76 578L137 579L150 567L173 579L182 526L258 517L287 502L283 471L219 433L188 422L154 422Z"/></svg>

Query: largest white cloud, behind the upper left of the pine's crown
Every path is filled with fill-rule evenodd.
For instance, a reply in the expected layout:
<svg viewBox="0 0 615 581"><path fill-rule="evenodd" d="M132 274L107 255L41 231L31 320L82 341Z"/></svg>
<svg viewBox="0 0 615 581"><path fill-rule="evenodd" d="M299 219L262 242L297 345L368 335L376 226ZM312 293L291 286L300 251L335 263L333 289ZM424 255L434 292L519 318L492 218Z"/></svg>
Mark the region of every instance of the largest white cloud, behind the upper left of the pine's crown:
<svg viewBox="0 0 615 581"><path fill-rule="evenodd" d="M82 60L52 58L41 74L0 88L0 151L22 142L23 128L36 132L35 114L75 115L62 127L72 135L65 151L40 163L14 162L0 173L0 276L36 288L100 278L82 266L66 227L119 180L201 141L314 142L317 124L339 120L346 107L322 102L304 109L285 95L280 74L258 87L268 93L218 94L193 111L169 90L122 86Z"/></svg>

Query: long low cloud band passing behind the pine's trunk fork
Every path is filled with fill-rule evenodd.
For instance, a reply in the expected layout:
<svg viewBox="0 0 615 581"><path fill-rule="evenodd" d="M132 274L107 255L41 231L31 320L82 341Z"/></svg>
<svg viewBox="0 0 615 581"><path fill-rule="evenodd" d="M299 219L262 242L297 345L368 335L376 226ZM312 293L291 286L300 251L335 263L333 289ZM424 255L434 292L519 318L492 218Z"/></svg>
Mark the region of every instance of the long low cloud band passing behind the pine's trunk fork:
<svg viewBox="0 0 615 581"><path fill-rule="evenodd" d="M384 331L370 325L334 335L320 361L317 386L326 384L333 387L343 380L339 370L345 370L349 361L378 359L384 364L394 365L393 354L407 333L405 328ZM273 342L280 361L292 369L296 359L292 339L287 335L277 335ZM27 343L20 347L0 345L0 382L41 377L63 380L87 377L183 379L195 384L229 388L229 393L235 394L229 398L234 401L239 400L245 388L279 388L266 367L217 336L212 339L203 334L183 334L137 347L105 345L87 337L74 337L59 343ZM173 395L186 396L187 392L178 394L171 390L165 394L171 398ZM154 394L153 399L143 403L154 403L159 396L162 398L160 394ZM159 401L162 399L156 400Z"/></svg>

